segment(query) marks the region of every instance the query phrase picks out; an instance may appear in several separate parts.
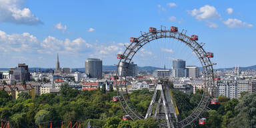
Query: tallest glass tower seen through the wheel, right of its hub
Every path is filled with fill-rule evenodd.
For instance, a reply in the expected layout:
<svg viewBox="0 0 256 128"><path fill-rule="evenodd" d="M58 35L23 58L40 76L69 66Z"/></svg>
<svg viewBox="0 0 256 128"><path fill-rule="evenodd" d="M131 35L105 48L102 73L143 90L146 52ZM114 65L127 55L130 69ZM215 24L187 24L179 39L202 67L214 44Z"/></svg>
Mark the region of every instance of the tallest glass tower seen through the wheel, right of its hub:
<svg viewBox="0 0 256 128"><path fill-rule="evenodd" d="M177 59L173 61L173 77L186 77L186 61Z"/></svg>

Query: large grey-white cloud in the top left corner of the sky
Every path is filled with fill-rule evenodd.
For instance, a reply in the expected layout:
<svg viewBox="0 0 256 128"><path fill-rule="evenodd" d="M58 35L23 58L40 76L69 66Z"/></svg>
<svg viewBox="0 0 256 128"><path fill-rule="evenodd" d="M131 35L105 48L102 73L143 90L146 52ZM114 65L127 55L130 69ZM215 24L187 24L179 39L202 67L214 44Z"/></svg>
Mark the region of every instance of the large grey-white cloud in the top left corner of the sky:
<svg viewBox="0 0 256 128"><path fill-rule="evenodd" d="M23 0L0 0L0 22L39 25L42 22L27 7L22 7Z"/></svg>

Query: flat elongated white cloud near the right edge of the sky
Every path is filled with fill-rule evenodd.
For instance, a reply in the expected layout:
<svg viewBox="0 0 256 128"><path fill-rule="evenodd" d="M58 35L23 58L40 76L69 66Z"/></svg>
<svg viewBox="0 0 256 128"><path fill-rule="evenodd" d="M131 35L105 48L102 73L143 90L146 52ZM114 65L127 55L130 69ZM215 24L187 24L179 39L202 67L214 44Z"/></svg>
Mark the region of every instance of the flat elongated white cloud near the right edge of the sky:
<svg viewBox="0 0 256 128"><path fill-rule="evenodd" d="M253 25L245 23L239 19L227 19L227 21L223 21L223 23L229 28L253 27Z"/></svg>

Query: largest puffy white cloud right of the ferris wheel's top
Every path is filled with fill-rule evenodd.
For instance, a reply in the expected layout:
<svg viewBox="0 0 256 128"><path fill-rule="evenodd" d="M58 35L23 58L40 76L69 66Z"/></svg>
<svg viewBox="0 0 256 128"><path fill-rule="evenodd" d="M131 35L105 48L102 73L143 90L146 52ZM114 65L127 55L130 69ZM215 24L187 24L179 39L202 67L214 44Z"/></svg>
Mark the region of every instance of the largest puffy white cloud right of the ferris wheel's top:
<svg viewBox="0 0 256 128"><path fill-rule="evenodd" d="M220 19L221 17L215 7L209 5L200 7L200 9L193 9L192 11L189 11L189 14L195 17L198 21L205 19Z"/></svg>

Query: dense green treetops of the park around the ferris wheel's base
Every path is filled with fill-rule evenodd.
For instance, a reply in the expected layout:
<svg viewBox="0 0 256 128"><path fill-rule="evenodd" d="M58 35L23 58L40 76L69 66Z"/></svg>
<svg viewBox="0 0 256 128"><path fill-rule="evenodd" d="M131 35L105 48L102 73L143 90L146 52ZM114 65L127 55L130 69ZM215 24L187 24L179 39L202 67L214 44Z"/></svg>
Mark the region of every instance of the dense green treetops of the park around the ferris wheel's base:
<svg viewBox="0 0 256 128"><path fill-rule="evenodd" d="M175 103L179 108L180 118L184 119L200 101L201 93L186 94L173 90ZM71 89L69 85L62 85L59 94L47 93L37 95L34 99L27 93L20 93L18 99L11 97L0 90L0 119L10 121L16 127L61 127L72 121L86 127L90 121L94 127L158 127L159 121L149 118L137 121L123 121L126 115L118 102L113 102L112 97L116 92L102 90L79 91ZM130 99L137 111L145 114L151 101L153 92L147 89L133 91ZM209 105L209 110L202 117L207 118L205 125L192 127L255 127L256 126L256 93L243 93L241 99L218 97L218 105ZM191 127L189 126L189 127Z"/></svg>

